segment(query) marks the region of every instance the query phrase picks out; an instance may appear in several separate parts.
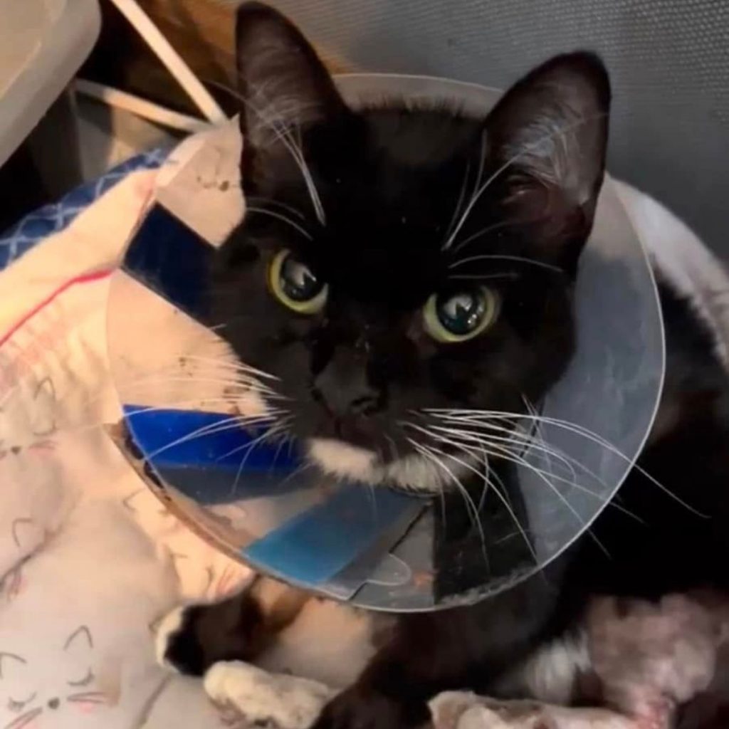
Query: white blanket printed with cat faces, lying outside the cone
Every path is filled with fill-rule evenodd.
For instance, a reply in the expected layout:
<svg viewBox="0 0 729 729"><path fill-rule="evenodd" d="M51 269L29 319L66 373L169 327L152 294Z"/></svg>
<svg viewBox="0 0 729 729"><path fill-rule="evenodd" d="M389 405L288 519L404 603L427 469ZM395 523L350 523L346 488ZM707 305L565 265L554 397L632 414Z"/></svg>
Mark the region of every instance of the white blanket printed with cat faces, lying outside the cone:
<svg viewBox="0 0 729 729"><path fill-rule="evenodd" d="M200 682L155 665L152 631L180 601L235 590L246 570L165 513L103 428L120 418L106 356L110 272L155 186L188 174L188 195L157 196L168 194L178 214L206 211L211 241L241 215L230 184L237 150L213 144L192 169L199 149L198 136L160 171L131 174L0 276L0 729L225 721ZM728 290L679 222L620 190L642 230L655 233L644 242L660 268L677 270L694 295ZM707 316L712 296L698 296Z"/></svg>

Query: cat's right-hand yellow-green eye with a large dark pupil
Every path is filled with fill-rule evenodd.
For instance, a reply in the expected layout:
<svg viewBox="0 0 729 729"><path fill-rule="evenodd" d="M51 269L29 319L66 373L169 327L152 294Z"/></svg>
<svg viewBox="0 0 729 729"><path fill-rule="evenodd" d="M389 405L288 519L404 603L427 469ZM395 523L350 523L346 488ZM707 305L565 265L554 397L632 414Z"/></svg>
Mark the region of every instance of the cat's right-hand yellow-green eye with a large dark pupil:
<svg viewBox="0 0 729 729"><path fill-rule="evenodd" d="M496 321L499 301L499 295L486 286L434 294L423 308L425 329L439 342L465 342L485 332Z"/></svg>

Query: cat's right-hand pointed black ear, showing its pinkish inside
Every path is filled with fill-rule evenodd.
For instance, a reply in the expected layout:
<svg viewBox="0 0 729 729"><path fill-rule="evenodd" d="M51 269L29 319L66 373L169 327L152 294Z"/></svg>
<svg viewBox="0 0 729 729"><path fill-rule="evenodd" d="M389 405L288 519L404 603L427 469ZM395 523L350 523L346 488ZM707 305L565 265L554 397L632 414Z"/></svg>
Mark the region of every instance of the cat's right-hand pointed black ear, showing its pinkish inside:
<svg viewBox="0 0 729 729"><path fill-rule="evenodd" d="M610 85L591 53L560 55L517 82L486 122L504 168L507 206L534 225L551 252L579 254L593 224L605 168ZM560 250L559 246L563 249Z"/></svg>

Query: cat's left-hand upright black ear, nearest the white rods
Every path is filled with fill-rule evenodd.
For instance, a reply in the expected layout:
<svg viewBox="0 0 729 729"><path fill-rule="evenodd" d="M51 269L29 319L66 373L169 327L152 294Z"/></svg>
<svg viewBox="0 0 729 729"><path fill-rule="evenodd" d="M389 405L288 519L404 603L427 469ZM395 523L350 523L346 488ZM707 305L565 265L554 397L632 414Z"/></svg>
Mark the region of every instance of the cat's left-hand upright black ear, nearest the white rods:
<svg viewBox="0 0 729 729"><path fill-rule="evenodd" d="M235 54L243 133L243 185L286 149L292 133L346 109L332 77L299 29L258 2L238 8Z"/></svg>

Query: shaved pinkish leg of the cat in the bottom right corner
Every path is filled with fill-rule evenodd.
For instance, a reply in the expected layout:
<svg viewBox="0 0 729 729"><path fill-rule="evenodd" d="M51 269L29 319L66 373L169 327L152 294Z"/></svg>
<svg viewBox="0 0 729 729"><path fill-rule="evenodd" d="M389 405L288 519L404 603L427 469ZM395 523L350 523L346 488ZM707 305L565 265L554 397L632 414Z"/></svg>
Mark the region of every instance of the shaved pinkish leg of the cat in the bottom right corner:
<svg viewBox="0 0 729 729"><path fill-rule="evenodd" d="M561 639L521 666L521 695L539 701L443 693L429 703L434 729L669 729L678 707L711 684L728 621L729 601L719 595L671 595L658 602L594 599L579 665L582 679L593 687L593 701L604 708L555 706L561 692L553 689L564 681L555 683L547 667L551 652L553 667L564 670ZM579 678L574 674L570 680ZM579 692L573 698L588 702Z"/></svg>

